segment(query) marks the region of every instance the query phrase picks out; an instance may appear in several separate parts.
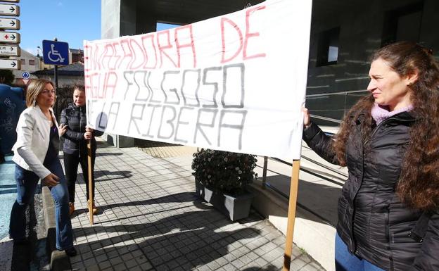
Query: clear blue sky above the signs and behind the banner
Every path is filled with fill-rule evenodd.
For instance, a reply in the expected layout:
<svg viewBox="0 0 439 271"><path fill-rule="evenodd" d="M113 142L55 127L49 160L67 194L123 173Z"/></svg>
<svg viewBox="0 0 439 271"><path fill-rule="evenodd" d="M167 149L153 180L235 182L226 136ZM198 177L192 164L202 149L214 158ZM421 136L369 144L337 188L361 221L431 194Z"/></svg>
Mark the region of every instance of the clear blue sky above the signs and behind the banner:
<svg viewBox="0 0 439 271"><path fill-rule="evenodd" d="M20 48L34 55L42 53L37 46L43 48L44 39L56 37L58 42L68 42L70 49L84 49L84 39L101 39L101 0L20 0L18 6ZM164 30L174 25L157 27Z"/></svg>

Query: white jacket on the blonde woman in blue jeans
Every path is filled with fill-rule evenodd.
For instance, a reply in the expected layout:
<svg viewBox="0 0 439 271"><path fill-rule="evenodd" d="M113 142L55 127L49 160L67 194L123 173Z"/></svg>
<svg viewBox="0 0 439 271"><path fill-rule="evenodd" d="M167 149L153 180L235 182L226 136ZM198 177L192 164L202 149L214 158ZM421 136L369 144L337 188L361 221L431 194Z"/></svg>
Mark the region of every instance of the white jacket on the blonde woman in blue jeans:
<svg viewBox="0 0 439 271"><path fill-rule="evenodd" d="M52 109L49 109L54 125L58 127ZM25 170L33 171L41 179L51 172L43 162L49 149L51 121L46 118L39 106L31 106L21 113L17 124L17 142L12 150L12 160ZM59 130L58 130L59 135Z"/></svg>

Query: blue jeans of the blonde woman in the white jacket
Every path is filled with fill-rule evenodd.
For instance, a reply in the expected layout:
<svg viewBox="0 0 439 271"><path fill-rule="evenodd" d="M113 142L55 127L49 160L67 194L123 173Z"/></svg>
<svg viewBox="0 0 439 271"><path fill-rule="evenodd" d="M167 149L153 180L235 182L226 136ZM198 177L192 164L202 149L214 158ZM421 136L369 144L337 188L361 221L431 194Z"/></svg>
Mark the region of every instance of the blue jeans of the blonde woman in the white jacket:
<svg viewBox="0 0 439 271"><path fill-rule="evenodd" d="M60 160L55 158L48 165L48 170L59 177L59 184L50 191L55 202L56 248L64 250L73 246L72 224L69 216L69 198L67 183ZM15 165L15 182L17 183L17 200L12 206L9 234L15 241L26 239L26 208L34 200L39 177L32 171Z"/></svg>

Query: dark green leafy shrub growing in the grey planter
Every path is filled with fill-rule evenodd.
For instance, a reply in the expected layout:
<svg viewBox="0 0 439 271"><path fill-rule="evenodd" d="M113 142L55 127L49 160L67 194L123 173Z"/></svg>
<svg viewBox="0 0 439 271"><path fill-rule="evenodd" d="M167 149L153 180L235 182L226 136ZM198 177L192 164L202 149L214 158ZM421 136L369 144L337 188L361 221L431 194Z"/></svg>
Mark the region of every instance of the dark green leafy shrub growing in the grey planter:
<svg viewBox="0 0 439 271"><path fill-rule="evenodd" d="M212 191L237 196L257 178L256 162L256 156L251 154L201 149L193 153L192 175Z"/></svg>

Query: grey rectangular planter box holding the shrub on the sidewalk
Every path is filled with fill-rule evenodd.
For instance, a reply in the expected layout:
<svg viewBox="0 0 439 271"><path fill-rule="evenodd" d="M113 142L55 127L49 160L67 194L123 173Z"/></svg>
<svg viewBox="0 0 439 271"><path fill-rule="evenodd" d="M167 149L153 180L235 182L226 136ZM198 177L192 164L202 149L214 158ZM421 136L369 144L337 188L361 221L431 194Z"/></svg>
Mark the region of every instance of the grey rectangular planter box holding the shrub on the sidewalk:
<svg viewBox="0 0 439 271"><path fill-rule="evenodd" d="M239 196L230 196L221 191L212 191L195 182L196 194L212 206L224 213L231 221L247 218L250 213L250 206L255 197L250 192Z"/></svg>

